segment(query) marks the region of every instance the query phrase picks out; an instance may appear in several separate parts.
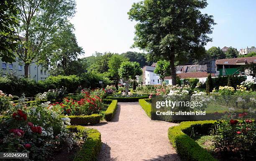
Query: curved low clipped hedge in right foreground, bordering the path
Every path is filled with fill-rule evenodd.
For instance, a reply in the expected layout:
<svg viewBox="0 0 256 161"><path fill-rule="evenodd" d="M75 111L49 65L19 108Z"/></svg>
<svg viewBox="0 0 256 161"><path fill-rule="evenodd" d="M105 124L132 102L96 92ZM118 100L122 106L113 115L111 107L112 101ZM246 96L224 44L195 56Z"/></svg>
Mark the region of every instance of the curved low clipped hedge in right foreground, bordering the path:
<svg viewBox="0 0 256 161"><path fill-rule="evenodd" d="M169 128L168 138L172 146L184 161L218 161L213 158L204 148L199 146L187 134L192 131L196 134L209 134L209 128L215 121L186 121L178 126ZM187 134L186 134L187 133Z"/></svg>

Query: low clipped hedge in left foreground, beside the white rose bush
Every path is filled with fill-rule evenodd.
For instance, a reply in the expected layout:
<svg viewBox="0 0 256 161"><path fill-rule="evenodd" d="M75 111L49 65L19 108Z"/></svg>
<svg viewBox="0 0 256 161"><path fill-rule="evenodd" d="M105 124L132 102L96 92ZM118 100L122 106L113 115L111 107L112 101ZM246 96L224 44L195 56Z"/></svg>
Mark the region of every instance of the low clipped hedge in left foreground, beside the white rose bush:
<svg viewBox="0 0 256 161"><path fill-rule="evenodd" d="M101 148L101 134L96 129L89 129L83 126L68 126L70 131L87 133L86 141L82 148L76 153L73 161L97 161Z"/></svg>

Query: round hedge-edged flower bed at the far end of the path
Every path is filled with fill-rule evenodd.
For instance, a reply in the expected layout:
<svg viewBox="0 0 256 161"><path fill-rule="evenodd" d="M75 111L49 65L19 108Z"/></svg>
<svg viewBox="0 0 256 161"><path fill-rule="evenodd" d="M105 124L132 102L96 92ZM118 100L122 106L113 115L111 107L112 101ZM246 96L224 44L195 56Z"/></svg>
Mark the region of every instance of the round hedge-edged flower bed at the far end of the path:
<svg viewBox="0 0 256 161"><path fill-rule="evenodd" d="M138 102L139 99L148 98L148 95L113 95L106 98L109 100L118 100L118 102Z"/></svg>

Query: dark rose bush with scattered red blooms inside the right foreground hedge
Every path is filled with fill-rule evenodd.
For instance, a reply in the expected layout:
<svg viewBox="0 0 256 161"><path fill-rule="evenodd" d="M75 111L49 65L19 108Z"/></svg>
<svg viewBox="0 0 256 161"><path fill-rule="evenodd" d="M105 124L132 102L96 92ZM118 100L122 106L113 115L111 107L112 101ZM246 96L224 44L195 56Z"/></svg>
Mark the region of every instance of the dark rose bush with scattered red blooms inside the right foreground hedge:
<svg viewBox="0 0 256 161"><path fill-rule="evenodd" d="M253 120L223 120L215 123L215 147L224 155L236 155L255 160L256 122Z"/></svg>

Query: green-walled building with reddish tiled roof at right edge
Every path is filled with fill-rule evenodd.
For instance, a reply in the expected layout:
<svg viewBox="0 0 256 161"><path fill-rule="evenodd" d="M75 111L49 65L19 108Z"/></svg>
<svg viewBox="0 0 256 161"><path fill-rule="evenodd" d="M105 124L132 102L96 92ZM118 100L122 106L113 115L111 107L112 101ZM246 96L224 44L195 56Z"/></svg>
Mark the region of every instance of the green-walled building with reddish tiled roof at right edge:
<svg viewBox="0 0 256 161"><path fill-rule="evenodd" d="M215 62L216 69L220 72L220 76L243 74L244 71L241 71L241 66L251 63L256 63L256 56L244 58L217 59Z"/></svg>

